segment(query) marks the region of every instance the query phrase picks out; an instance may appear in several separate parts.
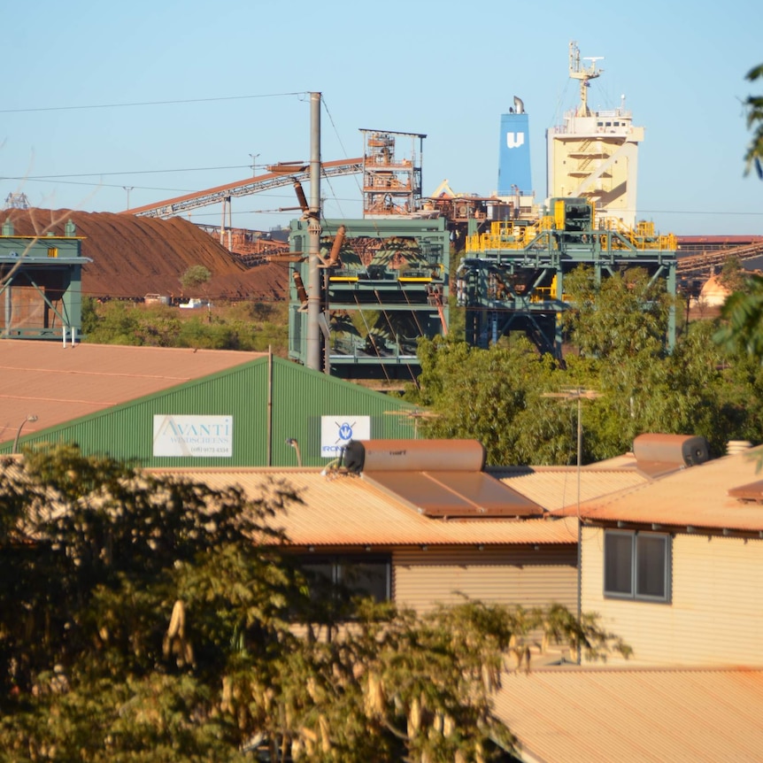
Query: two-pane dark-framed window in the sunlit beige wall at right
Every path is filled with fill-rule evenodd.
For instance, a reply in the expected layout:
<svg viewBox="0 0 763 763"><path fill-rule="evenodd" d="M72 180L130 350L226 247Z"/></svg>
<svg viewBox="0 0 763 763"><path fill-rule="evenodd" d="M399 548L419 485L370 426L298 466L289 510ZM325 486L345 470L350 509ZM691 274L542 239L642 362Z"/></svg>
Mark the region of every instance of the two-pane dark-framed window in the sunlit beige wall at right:
<svg viewBox="0 0 763 763"><path fill-rule="evenodd" d="M670 565L670 536L605 532L605 597L669 602Z"/></svg>

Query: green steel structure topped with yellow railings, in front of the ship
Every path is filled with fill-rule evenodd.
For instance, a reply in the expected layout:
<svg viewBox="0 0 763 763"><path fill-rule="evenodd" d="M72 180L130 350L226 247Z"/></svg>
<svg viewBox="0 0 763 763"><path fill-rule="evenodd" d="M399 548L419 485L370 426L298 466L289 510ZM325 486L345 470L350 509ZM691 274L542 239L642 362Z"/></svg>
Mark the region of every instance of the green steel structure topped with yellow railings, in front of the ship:
<svg viewBox="0 0 763 763"><path fill-rule="evenodd" d="M564 278L581 265L594 268L599 281L642 267L675 294L674 235L655 235L648 222L636 230L612 219L597 223L595 207L585 198L551 199L550 208L551 214L536 221L470 221L456 274L457 301L466 307L466 342L487 348L520 331L540 351L561 358ZM674 311L666 339L672 348Z"/></svg>

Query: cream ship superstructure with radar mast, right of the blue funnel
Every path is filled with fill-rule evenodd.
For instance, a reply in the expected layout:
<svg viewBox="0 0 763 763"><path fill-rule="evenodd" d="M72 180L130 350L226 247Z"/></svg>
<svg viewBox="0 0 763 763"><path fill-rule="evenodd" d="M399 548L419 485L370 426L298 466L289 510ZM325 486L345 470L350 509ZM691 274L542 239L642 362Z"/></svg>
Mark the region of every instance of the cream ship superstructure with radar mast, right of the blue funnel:
<svg viewBox="0 0 763 763"><path fill-rule="evenodd" d="M551 198L582 197L596 204L597 215L636 226L638 144L644 127L635 127L625 96L614 109L592 111L590 81L603 69L600 58L583 58L576 42L569 45L569 75L580 82L580 104L566 112L564 123L546 133L548 192Z"/></svg>

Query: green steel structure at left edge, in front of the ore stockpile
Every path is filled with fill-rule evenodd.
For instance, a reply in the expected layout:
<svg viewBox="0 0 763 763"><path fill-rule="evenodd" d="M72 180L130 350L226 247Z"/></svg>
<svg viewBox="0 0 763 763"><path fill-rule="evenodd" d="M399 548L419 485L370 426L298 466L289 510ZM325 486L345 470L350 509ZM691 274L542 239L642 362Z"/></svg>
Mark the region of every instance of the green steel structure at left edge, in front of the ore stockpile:
<svg viewBox="0 0 763 763"><path fill-rule="evenodd" d="M82 324L82 237L71 220L64 235L0 235L0 338L63 339Z"/></svg>

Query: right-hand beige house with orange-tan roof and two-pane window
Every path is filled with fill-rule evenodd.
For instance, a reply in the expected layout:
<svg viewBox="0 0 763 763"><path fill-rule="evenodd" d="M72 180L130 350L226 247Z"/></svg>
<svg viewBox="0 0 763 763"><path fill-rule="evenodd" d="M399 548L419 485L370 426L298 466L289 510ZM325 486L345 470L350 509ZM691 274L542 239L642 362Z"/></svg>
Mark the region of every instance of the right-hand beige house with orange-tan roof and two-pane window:
<svg viewBox="0 0 763 763"><path fill-rule="evenodd" d="M582 609L634 662L763 665L761 463L743 451L580 506Z"/></svg>

